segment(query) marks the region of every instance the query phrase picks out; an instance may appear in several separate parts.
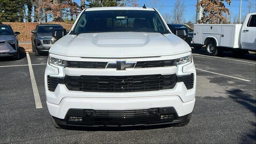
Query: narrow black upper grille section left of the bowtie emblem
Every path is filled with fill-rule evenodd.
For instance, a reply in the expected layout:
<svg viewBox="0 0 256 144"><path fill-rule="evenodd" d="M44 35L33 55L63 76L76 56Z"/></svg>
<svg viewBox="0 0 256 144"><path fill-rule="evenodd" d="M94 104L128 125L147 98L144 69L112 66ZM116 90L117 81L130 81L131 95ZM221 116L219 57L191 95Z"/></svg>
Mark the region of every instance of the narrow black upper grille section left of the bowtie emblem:
<svg viewBox="0 0 256 144"><path fill-rule="evenodd" d="M78 61L67 61L69 68L105 68L108 62L78 62Z"/></svg>

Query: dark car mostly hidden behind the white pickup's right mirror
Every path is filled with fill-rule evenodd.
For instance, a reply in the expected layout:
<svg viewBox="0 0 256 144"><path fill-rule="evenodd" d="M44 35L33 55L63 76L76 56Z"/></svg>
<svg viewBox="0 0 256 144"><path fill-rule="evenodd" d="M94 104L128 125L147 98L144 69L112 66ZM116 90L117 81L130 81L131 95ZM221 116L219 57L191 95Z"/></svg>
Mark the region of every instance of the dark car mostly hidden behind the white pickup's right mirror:
<svg viewBox="0 0 256 144"><path fill-rule="evenodd" d="M188 36L185 38L185 41L189 44L189 46L193 47L196 50L199 50L202 48L202 44L194 44L193 43L193 36L194 36L194 30L192 30L190 27L186 26L185 24L167 24L170 30L173 32L175 28L187 28L188 29Z"/></svg>

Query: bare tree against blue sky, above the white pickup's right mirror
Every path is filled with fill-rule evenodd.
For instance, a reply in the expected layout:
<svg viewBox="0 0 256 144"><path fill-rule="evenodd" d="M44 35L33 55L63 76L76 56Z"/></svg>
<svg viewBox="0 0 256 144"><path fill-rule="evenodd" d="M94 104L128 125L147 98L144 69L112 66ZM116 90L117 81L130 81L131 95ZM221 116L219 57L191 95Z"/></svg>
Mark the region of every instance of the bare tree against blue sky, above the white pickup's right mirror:
<svg viewBox="0 0 256 144"><path fill-rule="evenodd" d="M183 15L185 12L184 0L177 0L173 9L173 16L174 23L180 24L183 20Z"/></svg>

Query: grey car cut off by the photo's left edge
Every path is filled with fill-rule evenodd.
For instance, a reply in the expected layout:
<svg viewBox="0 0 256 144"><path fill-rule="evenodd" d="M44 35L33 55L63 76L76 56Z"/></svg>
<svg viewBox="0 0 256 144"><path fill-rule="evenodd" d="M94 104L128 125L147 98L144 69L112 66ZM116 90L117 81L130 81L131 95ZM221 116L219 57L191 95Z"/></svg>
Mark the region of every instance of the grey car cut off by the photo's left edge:
<svg viewBox="0 0 256 144"><path fill-rule="evenodd" d="M9 24L0 24L0 57L19 59L18 34L20 32L13 32Z"/></svg>

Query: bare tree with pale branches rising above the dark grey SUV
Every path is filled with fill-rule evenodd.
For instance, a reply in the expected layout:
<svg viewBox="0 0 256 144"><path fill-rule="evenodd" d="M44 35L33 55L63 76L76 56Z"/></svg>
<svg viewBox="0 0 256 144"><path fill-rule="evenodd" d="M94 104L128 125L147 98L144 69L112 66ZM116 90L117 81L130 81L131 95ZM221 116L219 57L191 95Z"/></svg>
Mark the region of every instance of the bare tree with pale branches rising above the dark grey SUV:
<svg viewBox="0 0 256 144"><path fill-rule="evenodd" d="M34 21L41 24L44 19L43 0L34 0L31 3L34 6Z"/></svg>

